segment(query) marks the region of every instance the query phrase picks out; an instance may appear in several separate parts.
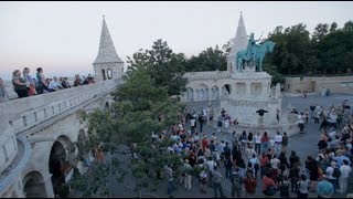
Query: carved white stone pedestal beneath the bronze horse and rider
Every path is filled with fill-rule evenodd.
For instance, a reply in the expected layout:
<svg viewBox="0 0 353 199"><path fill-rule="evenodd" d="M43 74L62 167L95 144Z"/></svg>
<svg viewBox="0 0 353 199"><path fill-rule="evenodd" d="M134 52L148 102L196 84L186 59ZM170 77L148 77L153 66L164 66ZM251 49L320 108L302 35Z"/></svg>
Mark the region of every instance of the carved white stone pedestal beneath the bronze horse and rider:
<svg viewBox="0 0 353 199"><path fill-rule="evenodd" d="M289 129L288 121L282 115L280 94L271 94L271 76L266 72L255 72L255 65L246 65L243 72L234 73L227 80L231 85L231 94L221 97L221 108L224 108L232 121L237 119L242 127L252 129ZM280 92L280 91L279 91ZM258 109L268 111L264 115L264 127L259 125ZM279 109L280 122L277 121ZM282 132L279 130L279 132ZM255 133L255 132L253 132ZM289 133L289 132L287 132Z"/></svg>

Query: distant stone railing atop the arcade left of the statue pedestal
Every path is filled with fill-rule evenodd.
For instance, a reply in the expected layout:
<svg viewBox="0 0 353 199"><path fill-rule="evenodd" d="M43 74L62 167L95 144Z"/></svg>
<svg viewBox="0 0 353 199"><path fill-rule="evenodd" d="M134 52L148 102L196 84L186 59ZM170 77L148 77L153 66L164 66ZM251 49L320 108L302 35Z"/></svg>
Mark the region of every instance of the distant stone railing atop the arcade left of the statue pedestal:
<svg viewBox="0 0 353 199"><path fill-rule="evenodd" d="M210 71L210 72L190 72L185 73L188 80L220 80L229 78L232 76L228 71Z"/></svg>

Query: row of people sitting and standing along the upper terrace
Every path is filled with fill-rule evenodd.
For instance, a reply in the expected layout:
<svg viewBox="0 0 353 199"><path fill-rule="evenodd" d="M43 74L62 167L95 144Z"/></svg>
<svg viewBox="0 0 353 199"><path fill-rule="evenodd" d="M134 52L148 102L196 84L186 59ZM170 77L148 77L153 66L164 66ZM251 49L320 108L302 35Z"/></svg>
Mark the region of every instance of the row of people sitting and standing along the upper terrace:
<svg viewBox="0 0 353 199"><path fill-rule="evenodd" d="M66 76L61 76L58 78L57 76L53 76L53 78L46 78L42 67L36 69L35 77L33 77L30 72L29 67L24 67L22 72L20 70L14 70L12 73L11 82L13 91L17 93L19 98L95 83L95 80L90 74L82 77L79 74L76 74L73 85L71 85ZM3 80L0 77L0 102L6 101L9 101L9 94L3 84Z"/></svg>

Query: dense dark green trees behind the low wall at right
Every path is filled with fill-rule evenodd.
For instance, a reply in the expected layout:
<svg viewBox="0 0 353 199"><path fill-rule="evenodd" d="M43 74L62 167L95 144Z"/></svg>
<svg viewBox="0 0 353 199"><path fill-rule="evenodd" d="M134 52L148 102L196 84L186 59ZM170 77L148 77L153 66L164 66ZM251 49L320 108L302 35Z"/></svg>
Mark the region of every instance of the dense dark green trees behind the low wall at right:
<svg viewBox="0 0 353 199"><path fill-rule="evenodd" d="M282 75L343 74L352 69L353 22L342 29L335 22L319 23L312 34L302 23L277 27L267 40L276 42L265 64L275 65Z"/></svg>

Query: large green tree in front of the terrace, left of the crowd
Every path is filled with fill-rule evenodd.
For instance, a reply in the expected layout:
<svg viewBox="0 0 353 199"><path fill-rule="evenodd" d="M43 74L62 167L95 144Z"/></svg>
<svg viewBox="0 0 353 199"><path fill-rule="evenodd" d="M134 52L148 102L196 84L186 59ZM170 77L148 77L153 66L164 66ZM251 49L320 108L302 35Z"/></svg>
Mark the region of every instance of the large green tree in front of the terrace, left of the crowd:
<svg viewBox="0 0 353 199"><path fill-rule="evenodd" d="M125 81L111 93L116 103L109 111L96 109L83 114L88 125L88 137L81 147L90 149L100 146L105 156L109 157L88 175L73 180L73 188L84 197L109 196L109 176L117 176L118 181L124 181L127 170L124 170L121 164L127 160L121 160L119 154L122 151L130 154L128 169L133 175L135 191L139 197L145 188L156 190L163 166L172 164L180 168L181 157L167 153L171 140L164 138L162 142L153 142L151 134L167 134L167 129L178 122L184 106L170 98L167 86L156 86L145 67L131 71Z"/></svg>

